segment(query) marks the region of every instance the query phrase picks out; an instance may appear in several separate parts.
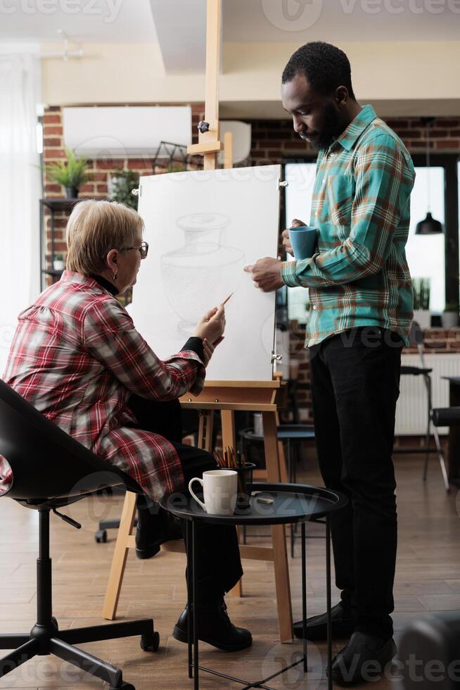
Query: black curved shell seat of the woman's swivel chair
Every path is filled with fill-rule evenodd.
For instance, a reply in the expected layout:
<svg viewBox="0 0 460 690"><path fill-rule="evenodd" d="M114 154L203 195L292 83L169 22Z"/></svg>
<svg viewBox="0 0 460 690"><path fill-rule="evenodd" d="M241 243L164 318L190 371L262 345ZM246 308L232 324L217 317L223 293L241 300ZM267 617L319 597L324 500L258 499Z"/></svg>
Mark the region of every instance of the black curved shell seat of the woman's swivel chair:
<svg viewBox="0 0 460 690"><path fill-rule="evenodd" d="M0 455L13 472L11 488L2 494L11 498L46 501L104 486L142 491L134 479L72 439L1 380Z"/></svg>

